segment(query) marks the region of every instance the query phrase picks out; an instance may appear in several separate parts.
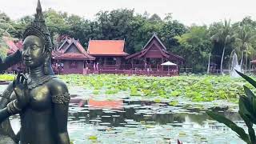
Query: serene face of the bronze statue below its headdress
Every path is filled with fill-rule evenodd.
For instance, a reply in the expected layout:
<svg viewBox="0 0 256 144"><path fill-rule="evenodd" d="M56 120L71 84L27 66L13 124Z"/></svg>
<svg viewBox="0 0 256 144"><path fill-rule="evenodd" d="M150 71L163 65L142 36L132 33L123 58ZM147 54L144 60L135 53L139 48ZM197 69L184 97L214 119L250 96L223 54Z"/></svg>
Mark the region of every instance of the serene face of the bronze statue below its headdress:
<svg viewBox="0 0 256 144"><path fill-rule="evenodd" d="M30 35L23 42L22 60L27 67L42 66L45 57L43 54L43 42L40 38Z"/></svg>

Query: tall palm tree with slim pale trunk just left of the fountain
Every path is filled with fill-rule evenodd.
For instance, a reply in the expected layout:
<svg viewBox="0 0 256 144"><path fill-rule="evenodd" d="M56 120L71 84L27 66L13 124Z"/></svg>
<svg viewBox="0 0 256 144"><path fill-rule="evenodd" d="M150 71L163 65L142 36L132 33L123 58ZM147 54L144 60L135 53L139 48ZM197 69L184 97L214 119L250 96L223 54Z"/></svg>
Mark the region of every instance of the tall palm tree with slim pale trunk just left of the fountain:
<svg viewBox="0 0 256 144"><path fill-rule="evenodd" d="M230 46L232 42L234 42L234 30L230 26L230 20L224 21L224 25L222 23L222 26L219 28L216 34L214 34L211 39L214 42L220 42L223 44L223 50L222 50L222 60L221 60L221 74L222 74L222 64L224 59L224 54L227 46Z"/></svg>

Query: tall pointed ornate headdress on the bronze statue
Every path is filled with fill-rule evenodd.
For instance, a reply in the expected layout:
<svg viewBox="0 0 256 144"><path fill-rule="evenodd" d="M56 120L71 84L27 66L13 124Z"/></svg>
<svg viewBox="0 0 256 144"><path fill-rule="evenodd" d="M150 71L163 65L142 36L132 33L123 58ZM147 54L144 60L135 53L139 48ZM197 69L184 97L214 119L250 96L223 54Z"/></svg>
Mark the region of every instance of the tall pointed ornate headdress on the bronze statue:
<svg viewBox="0 0 256 144"><path fill-rule="evenodd" d="M34 15L34 22L31 22L23 33L23 40L29 35L35 35L42 38L45 42L46 50L52 50L52 42L50 40L50 32L46 26L43 18L42 7L40 0L38 0L37 13Z"/></svg>

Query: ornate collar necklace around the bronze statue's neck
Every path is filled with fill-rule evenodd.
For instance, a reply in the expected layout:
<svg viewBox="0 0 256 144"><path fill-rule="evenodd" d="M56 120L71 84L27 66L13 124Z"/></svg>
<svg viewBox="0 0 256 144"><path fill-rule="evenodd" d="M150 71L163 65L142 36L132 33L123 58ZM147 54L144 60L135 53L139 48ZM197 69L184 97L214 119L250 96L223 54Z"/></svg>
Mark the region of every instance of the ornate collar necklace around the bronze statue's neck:
<svg viewBox="0 0 256 144"><path fill-rule="evenodd" d="M32 90L37 86L42 86L44 83L49 82L52 78L56 77L53 75L43 75L40 78L29 78L27 81L27 87L29 90Z"/></svg>

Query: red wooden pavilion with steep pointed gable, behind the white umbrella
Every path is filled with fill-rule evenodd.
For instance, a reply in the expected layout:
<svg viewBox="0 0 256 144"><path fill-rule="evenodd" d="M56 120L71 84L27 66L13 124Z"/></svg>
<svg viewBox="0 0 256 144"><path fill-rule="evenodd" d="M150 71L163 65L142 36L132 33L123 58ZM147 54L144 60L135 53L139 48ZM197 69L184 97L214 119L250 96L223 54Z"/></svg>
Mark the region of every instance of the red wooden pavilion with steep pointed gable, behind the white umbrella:
<svg viewBox="0 0 256 144"><path fill-rule="evenodd" d="M168 52L166 46L163 45L157 34L153 34L141 51L127 56L126 60L130 61L132 70L164 73L167 67L161 66L163 62L170 61L177 65L182 65L184 58ZM173 71L174 74L178 73L177 66L173 66L173 69L170 70Z"/></svg>

